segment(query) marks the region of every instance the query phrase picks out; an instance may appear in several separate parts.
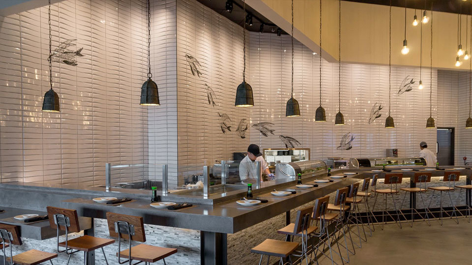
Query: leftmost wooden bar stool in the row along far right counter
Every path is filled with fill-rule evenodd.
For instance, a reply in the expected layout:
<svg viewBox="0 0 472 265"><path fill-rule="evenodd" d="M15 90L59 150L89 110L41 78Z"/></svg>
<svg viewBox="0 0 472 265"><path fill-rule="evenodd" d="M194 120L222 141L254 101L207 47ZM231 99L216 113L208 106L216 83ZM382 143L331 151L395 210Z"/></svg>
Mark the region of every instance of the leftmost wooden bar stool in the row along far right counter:
<svg viewBox="0 0 472 265"><path fill-rule="evenodd" d="M387 220L385 218L385 213L388 216L390 216L390 218L392 218L392 220L394 220L395 223L397 223L400 228L402 228L402 224L400 222L400 214L402 214L402 212L398 211L397 206L395 204L395 197L393 196L393 195L398 194L398 184L402 183L402 179L403 179L403 173L385 173L385 177L383 179L383 184L390 185L390 188L384 188L384 189L377 189L376 188L374 190L374 192L375 192L375 201L374 201L374 206L372 207L372 211L374 211L375 204L377 202L377 198L379 197L379 194L382 194L383 202L384 202L384 205L385 205L385 207L383 209L383 212L382 212L382 230L383 230L383 225L387 223ZM394 187L393 185L395 185L395 188L393 188ZM392 198L393 207L395 209L395 214L396 214L397 218L394 218L390 214L390 212L387 211L387 198L388 198L388 195L390 195L390 197Z"/></svg>

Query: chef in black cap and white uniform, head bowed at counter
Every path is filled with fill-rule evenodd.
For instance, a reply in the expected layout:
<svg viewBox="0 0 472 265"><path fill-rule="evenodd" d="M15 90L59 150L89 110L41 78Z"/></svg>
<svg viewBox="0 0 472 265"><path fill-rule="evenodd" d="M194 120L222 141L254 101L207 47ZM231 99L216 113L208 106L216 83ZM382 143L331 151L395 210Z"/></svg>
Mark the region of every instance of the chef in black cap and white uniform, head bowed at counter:
<svg viewBox="0 0 472 265"><path fill-rule="evenodd" d="M261 182L263 182L262 173L266 173L269 180L274 178L274 174L270 173L269 166L267 165L266 159L262 157L259 150L259 146L256 144L250 144L247 148L247 156L239 163L239 178L242 184L257 183L257 171L255 161L259 161L261 165Z"/></svg>

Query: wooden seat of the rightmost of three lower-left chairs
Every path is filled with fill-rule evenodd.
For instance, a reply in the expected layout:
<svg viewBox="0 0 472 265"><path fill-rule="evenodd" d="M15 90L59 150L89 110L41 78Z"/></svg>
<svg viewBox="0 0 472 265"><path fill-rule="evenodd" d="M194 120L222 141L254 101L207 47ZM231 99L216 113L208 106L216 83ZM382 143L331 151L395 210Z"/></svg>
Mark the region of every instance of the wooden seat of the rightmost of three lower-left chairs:
<svg viewBox="0 0 472 265"><path fill-rule="evenodd" d="M175 253L177 253L177 248L158 247L147 244L139 244L131 247L131 259L142 262L153 263ZM121 258L129 259L129 249L121 251L119 256Z"/></svg>

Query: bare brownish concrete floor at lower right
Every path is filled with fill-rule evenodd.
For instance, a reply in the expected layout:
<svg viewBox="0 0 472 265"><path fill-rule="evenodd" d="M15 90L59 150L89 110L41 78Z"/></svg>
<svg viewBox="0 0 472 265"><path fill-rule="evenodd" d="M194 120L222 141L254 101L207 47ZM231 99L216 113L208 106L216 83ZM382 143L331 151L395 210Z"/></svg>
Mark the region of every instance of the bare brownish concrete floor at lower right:
<svg viewBox="0 0 472 265"><path fill-rule="evenodd" d="M447 219L441 226L433 220L431 227L418 221L413 223L413 228L403 223L402 229L387 224L383 231L375 226L373 236L367 236L362 248L356 247L349 265L471 265L472 223L468 221L459 218L457 224ZM345 256L346 251L341 249L341 252ZM339 256L335 261L341 264ZM331 261L320 258L319 264L328 265Z"/></svg>

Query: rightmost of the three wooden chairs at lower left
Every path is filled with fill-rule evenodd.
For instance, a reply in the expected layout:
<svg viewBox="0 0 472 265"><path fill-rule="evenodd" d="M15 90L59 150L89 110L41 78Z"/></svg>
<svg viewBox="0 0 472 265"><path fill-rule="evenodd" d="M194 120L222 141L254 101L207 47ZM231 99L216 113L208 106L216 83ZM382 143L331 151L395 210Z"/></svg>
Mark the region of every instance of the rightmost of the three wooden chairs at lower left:
<svg viewBox="0 0 472 265"><path fill-rule="evenodd" d="M143 217L107 212L108 230L111 237L118 238L118 263L131 265L133 260L154 263L162 260L166 264L166 257L177 253L177 248L166 248L139 244L132 246L133 241L146 242ZM121 238L128 239L128 248L121 250ZM127 260L121 261L121 258Z"/></svg>

